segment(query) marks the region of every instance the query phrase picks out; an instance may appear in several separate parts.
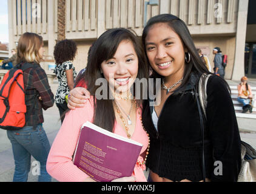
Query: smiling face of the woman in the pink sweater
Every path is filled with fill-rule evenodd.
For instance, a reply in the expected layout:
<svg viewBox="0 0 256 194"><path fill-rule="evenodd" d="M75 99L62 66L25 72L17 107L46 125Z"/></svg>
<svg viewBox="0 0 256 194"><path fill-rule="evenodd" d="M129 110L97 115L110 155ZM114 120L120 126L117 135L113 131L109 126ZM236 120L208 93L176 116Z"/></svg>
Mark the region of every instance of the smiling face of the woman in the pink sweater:
<svg viewBox="0 0 256 194"><path fill-rule="evenodd" d="M111 88L129 92L138 75L138 56L129 40L121 41L115 55L101 63L101 71Z"/></svg>

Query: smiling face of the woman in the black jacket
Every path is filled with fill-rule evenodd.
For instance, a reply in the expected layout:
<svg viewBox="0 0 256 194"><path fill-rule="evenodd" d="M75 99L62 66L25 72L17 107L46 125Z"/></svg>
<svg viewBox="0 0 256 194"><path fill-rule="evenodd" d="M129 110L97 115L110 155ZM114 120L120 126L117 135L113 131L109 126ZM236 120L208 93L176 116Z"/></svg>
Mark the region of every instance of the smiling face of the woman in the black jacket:
<svg viewBox="0 0 256 194"><path fill-rule="evenodd" d="M153 24L147 33L146 53L151 67L169 79L183 77L185 49L180 37L165 23Z"/></svg>

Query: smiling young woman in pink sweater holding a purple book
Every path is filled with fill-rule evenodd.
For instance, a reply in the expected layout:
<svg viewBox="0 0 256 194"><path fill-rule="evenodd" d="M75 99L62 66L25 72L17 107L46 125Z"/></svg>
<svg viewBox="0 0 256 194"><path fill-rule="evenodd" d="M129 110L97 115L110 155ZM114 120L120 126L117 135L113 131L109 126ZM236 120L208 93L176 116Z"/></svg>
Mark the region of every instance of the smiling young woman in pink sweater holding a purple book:
<svg viewBox="0 0 256 194"><path fill-rule="evenodd" d="M116 28L99 36L90 51L84 76L90 99L84 107L66 113L48 156L47 172L53 178L58 181L94 181L72 162L81 126L90 121L143 144L132 176L113 181L146 181L143 170L149 136L141 122L141 100L135 100L136 91L131 91L136 78L148 76L145 61L140 42L129 30ZM102 81L102 85L97 84ZM99 91L103 91L103 95Z"/></svg>

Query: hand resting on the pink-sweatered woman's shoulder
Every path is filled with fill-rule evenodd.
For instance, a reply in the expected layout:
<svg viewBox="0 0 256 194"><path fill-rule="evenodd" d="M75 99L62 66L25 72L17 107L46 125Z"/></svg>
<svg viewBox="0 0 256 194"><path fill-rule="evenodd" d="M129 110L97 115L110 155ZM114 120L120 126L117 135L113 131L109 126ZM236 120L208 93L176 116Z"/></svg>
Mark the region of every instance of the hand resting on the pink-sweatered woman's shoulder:
<svg viewBox="0 0 256 194"><path fill-rule="evenodd" d="M89 98L90 92L88 90L84 87L75 87L69 92L67 107L69 107L69 109L83 107Z"/></svg>

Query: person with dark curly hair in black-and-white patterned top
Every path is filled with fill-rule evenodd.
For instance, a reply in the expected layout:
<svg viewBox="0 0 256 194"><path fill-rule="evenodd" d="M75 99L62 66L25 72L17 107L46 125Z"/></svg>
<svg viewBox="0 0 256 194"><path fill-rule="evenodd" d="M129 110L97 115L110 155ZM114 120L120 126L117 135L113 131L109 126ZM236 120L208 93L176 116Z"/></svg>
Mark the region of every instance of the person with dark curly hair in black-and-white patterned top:
<svg viewBox="0 0 256 194"><path fill-rule="evenodd" d="M76 70L72 63L77 53L76 43L69 39L64 39L57 42L53 52L56 67L53 71L58 78L58 89L55 95L55 102L59 109L61 123L64 120L64 112L67 109L67 102L65 96L74 87L74 79L76 78Z"/></svg>

